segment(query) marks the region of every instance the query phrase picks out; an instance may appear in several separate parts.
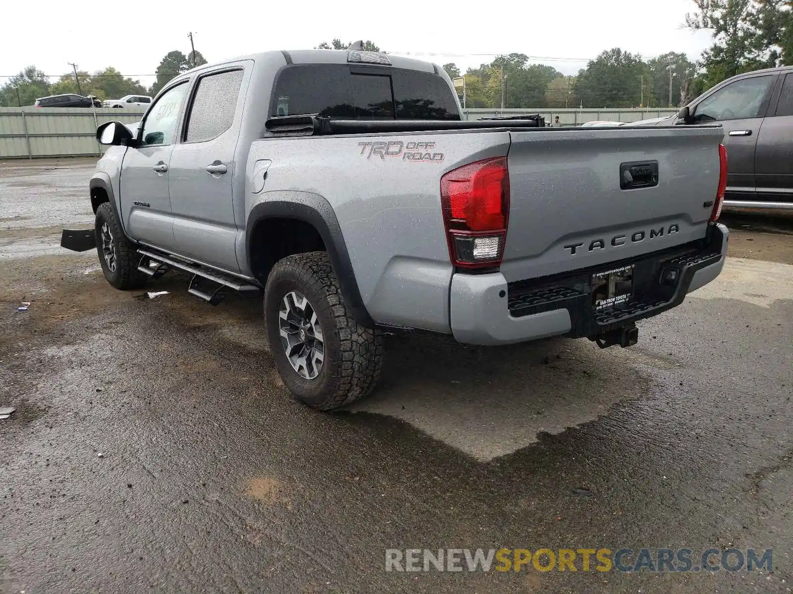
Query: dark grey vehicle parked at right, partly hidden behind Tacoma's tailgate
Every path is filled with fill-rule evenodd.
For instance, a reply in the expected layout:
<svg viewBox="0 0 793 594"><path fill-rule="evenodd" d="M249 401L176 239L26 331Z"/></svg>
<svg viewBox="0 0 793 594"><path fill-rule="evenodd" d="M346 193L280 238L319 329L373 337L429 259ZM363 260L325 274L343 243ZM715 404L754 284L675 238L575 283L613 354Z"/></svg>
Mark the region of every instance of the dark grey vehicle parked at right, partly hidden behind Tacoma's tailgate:
<svg viewBox="0 0 793 594"><path fill-rule="evenodd" d="M793 67L738 74L675 116L633 126L722 124L728 176L724 205L793 208Z"/></svg>

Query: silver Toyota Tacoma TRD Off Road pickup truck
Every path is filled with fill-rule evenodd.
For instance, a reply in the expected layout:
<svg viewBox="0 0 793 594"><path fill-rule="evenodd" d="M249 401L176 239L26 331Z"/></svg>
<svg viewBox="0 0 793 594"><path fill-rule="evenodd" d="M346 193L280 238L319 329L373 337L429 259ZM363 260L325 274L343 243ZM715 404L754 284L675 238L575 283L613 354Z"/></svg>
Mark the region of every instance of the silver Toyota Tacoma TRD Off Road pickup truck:
<svg viewBox="0 0 793 594"><path fill-rule="evenodd" d="M638 339L722 269L722 128L462 121L444 71L358 50L270 51L110 122L90 179L113 287L172 268L216 304L260 295L285 386L317 409L369 393L383 327L504 345Z"/></svg>

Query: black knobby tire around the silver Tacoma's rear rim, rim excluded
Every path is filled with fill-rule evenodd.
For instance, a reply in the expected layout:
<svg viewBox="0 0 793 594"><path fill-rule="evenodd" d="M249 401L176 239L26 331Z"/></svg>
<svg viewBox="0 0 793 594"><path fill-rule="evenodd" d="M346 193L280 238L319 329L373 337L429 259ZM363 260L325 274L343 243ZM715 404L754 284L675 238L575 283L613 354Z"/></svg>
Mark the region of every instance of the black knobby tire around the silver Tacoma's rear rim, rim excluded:
<svg viewBox="0 0 793 594"><path fill-rule="evenodd" d="M305 295L319 318L324 361L314 379L302 377L286 356L278 311L289 291ZM355 322L344 303L328 253L298 253L278 261L264 290L267 340L278 372L295 398L319 410L331 410L369 394L380 377L383 342L380 329Z"/></svg>

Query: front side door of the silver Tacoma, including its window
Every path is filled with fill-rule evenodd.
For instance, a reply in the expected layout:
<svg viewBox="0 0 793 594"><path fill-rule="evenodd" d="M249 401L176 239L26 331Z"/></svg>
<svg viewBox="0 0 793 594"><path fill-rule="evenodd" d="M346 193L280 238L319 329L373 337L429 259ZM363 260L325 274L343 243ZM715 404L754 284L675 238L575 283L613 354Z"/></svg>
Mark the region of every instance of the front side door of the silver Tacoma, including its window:
<svg viewBox="0 0 793 594"><path fill-rule="evenodd" d="M187 82L161 95L141 124L140 146L129 148L121 169L121 217L127 234L142 242L174 249L168 179Z"/></svg>

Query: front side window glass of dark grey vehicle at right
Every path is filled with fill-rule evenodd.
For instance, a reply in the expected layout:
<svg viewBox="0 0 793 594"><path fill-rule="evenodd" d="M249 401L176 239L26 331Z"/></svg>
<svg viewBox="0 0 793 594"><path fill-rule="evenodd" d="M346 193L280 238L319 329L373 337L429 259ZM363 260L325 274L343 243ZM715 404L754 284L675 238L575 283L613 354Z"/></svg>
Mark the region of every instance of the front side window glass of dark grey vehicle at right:
<svg viewBox="0 0 793 594"><path fill-rule="evenodd" d="M773 80L769 74L730 82L697 105L695 120L711 122L760 117L760 107L768 97Z"/></svg>

